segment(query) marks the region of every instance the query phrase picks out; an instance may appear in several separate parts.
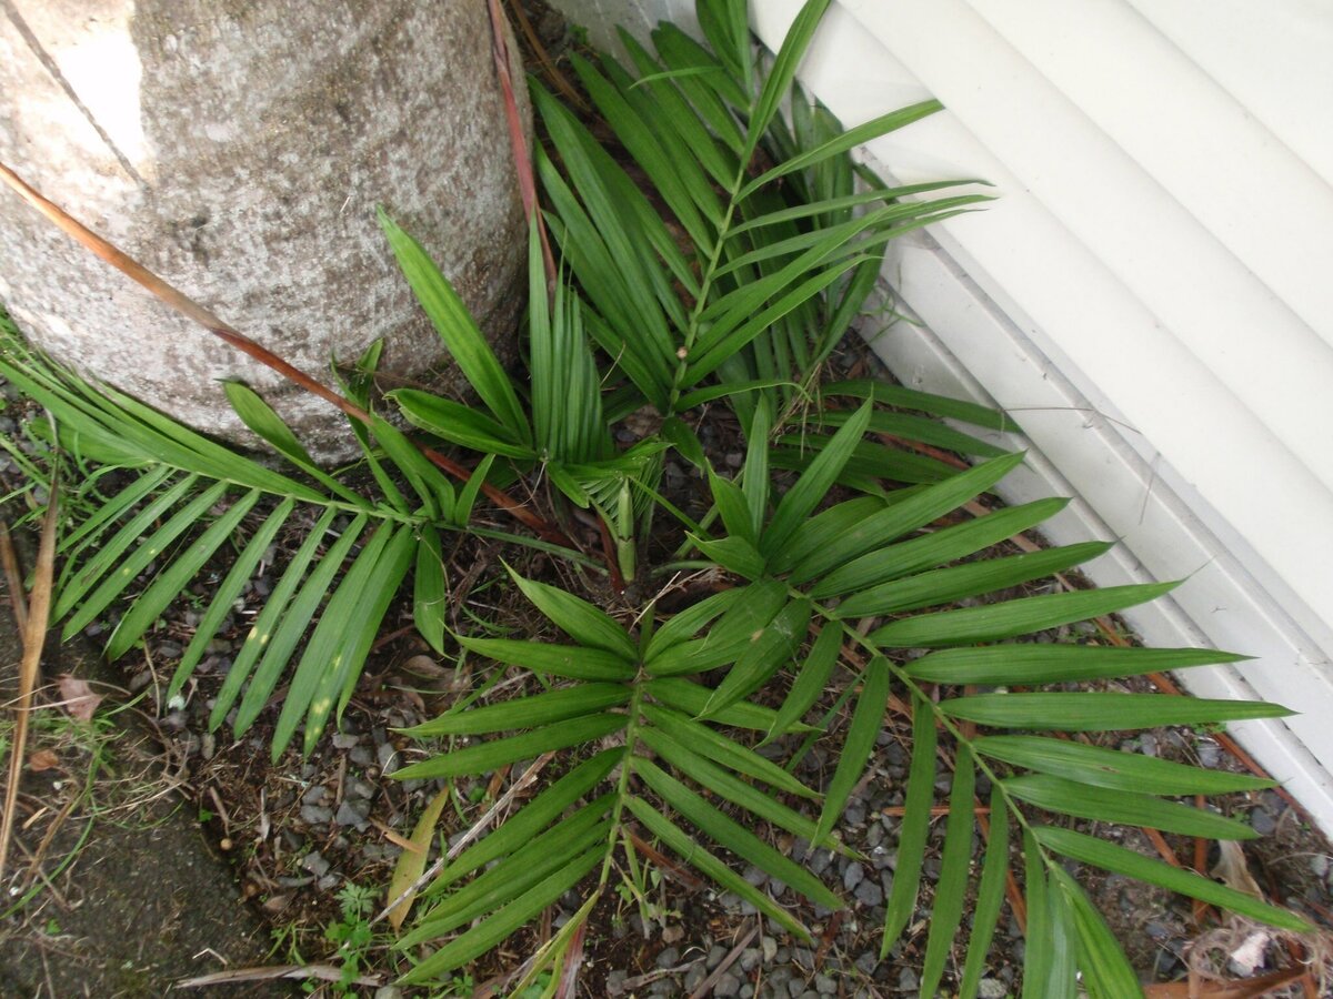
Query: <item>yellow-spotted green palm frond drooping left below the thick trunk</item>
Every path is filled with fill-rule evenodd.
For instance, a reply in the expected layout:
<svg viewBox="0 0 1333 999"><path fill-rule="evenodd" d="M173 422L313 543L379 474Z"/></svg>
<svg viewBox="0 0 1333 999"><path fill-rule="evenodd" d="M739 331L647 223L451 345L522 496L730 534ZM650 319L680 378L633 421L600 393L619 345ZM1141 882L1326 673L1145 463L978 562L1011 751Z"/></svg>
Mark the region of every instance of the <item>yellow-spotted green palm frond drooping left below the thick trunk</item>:
<svg viewBox="0 0 1333 999"><path fill-rule="evenodd" d="M277 414L240 384L225 386L239 416L295 474L224 448L128 396L91 386L17 338L5 340L0 373L45 406L68 450L120 470L120 489L100 485L100 507L64 533L65 565L52 614L65 637L125 605L107 641L108 655L119 657L144 641L213 559L233 559L221 583L211 587L168 699L184 689L228 623L269 547L284 530L305 527L304 542L237 651L209 723L219 727L236 709L233 726L244 731L291 674L273 754L301 725L308 753L335 709L341 713L347 705L413 563L419 531L452 515L452 486L397 430L376 420L361 440L385 489L379 497L351 489L320 469ZM415 501L395 478L409 484ZM97 481L111 480L103 474ZM428 594L432 586L443 590L439 574L425 571L420 579Z"/></svg>

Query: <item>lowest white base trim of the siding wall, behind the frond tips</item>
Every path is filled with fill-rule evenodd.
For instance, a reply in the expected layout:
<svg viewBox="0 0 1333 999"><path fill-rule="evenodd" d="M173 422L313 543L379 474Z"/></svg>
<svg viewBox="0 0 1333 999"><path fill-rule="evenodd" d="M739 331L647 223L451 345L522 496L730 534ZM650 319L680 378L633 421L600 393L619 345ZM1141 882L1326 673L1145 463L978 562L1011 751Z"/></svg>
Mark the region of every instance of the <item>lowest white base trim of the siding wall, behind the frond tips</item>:
<svg viewBox="0 0 1333 999"><path fill-rule="evenodd" d="M1098 586L1192 575L1170 597L1122 614L1145 643L1158 647L1216 646L1256 654L1238 666L1184 670L1177 678L1197 697L1266 699L1302 707L1306 714L1281 721L1241 722L1230 733L1281 781L1333 835L1333 769L1308 749L1326 742L1326 715L1309 698L1293 701L1289 682L1274 682L1274 662L1285 658L1289 670L1320 657L1318 646L1276 605L1265 589L1241 567L1190 507L1166 484L1169 470L1152 468L1056 368L1029 337L972 282L961 268L929 237L902 241L890 252L881 293L904 314L885 332L865 330L876 354L905 385L957 398L998 406L996 398L970 374L986 372L988 381L1002 378L1005 394L1025 397L1040 406L1016 413L1025 438L1005 444L1028 449L1028 461L998 488L1010 503L1049 496L1076 497L1069 507L1046 522L1045 537L1057 545L1117 538L1098 507L1122 506L1126 481L1146 480L1153 488L1134 502L1142 505L1148 530L1136 538L1136 549L1117 545L1085 566ZM938 332L937 332L938 330ZM960 360L964 358L964 360ZM974 432L976 428L968 428ZM1077 448L1070 462L1070 449ZM1054 456L1054 457L1053 457ZM1070 469L1069 476L1058 469ZM1058 468L1057 468L1058 466ZM1182 539L1188 543L1182 543ZM1157 545L1156 551L1149 551ZM1196 553L1209 551L1200 567ZM1154 562L1152 570L1142 555ZM1241 614L1209 614L1210 607L1241 607ZM1202 619L1201 619L1202 618ZM1308 670L1288 681L1309 682ZM1285 691L1285 698L1284 698Z"/></svg>

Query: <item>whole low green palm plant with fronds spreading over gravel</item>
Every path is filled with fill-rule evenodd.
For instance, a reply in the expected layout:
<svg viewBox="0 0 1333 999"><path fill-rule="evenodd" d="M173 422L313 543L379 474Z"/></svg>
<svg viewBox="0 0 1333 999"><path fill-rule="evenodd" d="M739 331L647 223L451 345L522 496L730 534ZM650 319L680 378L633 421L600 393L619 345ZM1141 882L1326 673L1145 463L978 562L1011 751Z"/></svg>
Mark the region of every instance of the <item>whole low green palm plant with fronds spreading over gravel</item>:
<svg viewBox="0 0 1333 999"><path fill-rule="evenodd" d="M1058 738L1278 717L1285 709L1070 689L1236 658L1226 653L1016 641L1153 599L1169 585L950 607L1064 573L1106 545L989 555L1064 505L1050 500L961 514L1022 461L976 433L1014 429L1012 422L873 381L820 386L818 368L860 313L885 242L980 200L902 200L945 184L858 188L849 151L938 105L918 104L849 132L810 108L793 76L826 7L828 0L812 0L802 8L768 67L753 53L745 5L736 0L698 3L712 51L669 25L655 35L656 53L627 37L637 80L612 60L576 59L581 83L643 170L649 194L535 84L551 144L536 156L549 210L529 228L527 380L499 364L425 250L383 217L407 280L476 400L392 392L388 404L416 436L404 433L375 412L383 404L372 393L379 356L372 346L335 397L361 446L348 474L317 466L244 385L227 386L233 406L288 470L91 386L12 338L4 344L0 373L49 410L51 432L67 450L101 464L83 486L100 505L73 505L84 515L61 541L55 615L67 635L128 602L108 642L109 654L124 653L233 546L232 566L172 678L176 695L269 546L296 533L303 539L217 695L213 727L235 710L232 723L244 731L289 674L273 754L303 725L308 753L345 709L380 622L409 579L417 629L437 653L456 643L541 683L531 695L469 699L409 733L423 741L424 758L396 778L452 781L533 757L559 758L552 769L563 773L423 879L415 924L400 940L415 964L405 982L465 964L596 872L587 902L536 955L528 978L559 966L611 883L617 852L636 870L648 840L657 844L652 855L670 851L790 932L808 935L798 912L753 888L716 851L816 904L840 907L834 892L753 830L768 825L816 848L854 852L836 829L864 778L890 694L910 714L913 741L881 954L898 943L921 902L938 758L952 769L940 875L925 892L933 918L922 994L938 988L973 899L957 987L976 995L1014 847L1028 911L1024 995L1072 996L1076 975L1093 995L1138 991L1066 871L1068 859L1276 926L1305 927L1289 912L1069 822L1238 839L1250 835L1248 827L1169 799L1270 782ZM778 115L784 101L790 125ZM555 236L560 264L544 258L543 225ZM228 336L237 342L233 330ZM714 402L736 413L746 437L732 480L717 473L692 428L692 412ZM611 428L644 406L661 420L660 432L619 450ZM954 425L930 418L938 416ZM922 446L890 446L888 437ZM441 448L465 449L476 461L467 468ZM708 485L712 509L698 522L660 496L669 448ZM925 453L938 450L978 464L960 462L960 470ZM483 525L483 497L524 510L503 492L520 476L545 477L565 500L593 509L607 525L604 551L573 547L555 514L523 513L537 537ZM790 485L781 489L784 482ZM608 613L616 609L511 570L567 641L448 631L448 538L468 531L539 547L621 582L639 569L636 538L657 510L682 522L681 555L713 573L717 593L674 613L652 601ZM207 526L197 530L199 522ZM850 682L838 679L840 667L852 671ZM829 687L850 711L840 734L826 731L834 715L816 710ZM757 743L789 734L840 739L822 790L757 751ZM439 739L449 745L437 749ZM990 786L990 822L973 878L982 779Z"/></svg>

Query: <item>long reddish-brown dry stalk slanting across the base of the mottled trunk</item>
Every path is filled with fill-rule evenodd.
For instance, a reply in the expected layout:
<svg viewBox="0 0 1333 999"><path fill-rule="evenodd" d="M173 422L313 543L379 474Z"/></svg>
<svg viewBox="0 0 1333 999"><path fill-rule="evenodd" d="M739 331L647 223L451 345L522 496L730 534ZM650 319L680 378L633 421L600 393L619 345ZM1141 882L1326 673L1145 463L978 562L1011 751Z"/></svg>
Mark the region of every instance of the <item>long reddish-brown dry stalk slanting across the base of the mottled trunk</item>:
<svg viewBox="0 0 1333 999"><path fill-rule="evenodd" d="M133 257L117 249L115 245L104 240L97 233L88 229L85 225L69 216L63 208L60 208L53 201L39 194L27 181L23 180L17 173L0 163L0 180L4 180L24 201L37 209L44 214L51 222L53 222L61 232L71 236L76 242L81 244L85 249L91 250L93 254L101 260L111 264L113 268L120 270L123 274L129 277L132 281L147 288L157 298L176 309L189 320L193 320L215 337L225 344L236 348L244 354L253 357L256 361L267 368L281 374L288 381L295 385L301 386L307 392L319 396L321 400L328 402L331 406L340 409L347 416L357 420L363 424L371 422L371 414L364 409L343 398L336 392L329 389L327 385L316 381L305 372L288 364L281 357L275 354L268 348L257 344L256 341L247 337L244 333L233 329L228 324L223 322L217 316L205 309L203 305L192 300L189 296L177 290L173 285L168 284L163 278L157 277L153 272L148 270L144 265L136 261ZM467 482L472 477L472 470L464 468L459 462L453 461L448 456L441 454L433 448L427 448L417 444L417 449L429 460L436 468L443 469L455 478ZM508 511L512 517L521 521L532 530L537 531L543 538L551 541L556 545L564 545L565 547L576 547L576 545L565 537L564 531L537 514L528 510L521 502L515 500L512 496L501 489L491 485L489 482L483 484L481 492L485 493L487 498L491 500L496 506L500 506Z"/></svg>

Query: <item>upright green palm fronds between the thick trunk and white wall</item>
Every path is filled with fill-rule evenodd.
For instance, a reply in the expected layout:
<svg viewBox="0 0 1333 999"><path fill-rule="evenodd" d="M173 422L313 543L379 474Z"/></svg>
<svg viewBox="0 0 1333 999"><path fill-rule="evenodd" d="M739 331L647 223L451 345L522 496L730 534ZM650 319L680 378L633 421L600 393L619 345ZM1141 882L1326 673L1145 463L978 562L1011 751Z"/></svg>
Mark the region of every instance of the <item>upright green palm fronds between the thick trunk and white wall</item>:
<svg viewBox="0 0 1333 999"><path fill-rule="evenodd" d="M656 53L623 35L633 73L609 57L573 57L680 237L588 129L533 84L560 163L541 153L537 168L556 236L597 313L589 328L663 416L697 405L714 376L749 386L732 389L742 393L736 406L746 426L756 394L785 409L860 312L885 244L985 200L902 200L948 184L856 189L849 151L940 105L925 101L846 132L812 109L793 75L826 5L802 8L766 72L736 55L749 45L748 33L736 36L744 4L700 8L728 55L661 25ZM793 129L777 116L786 99ZM774 165L757 170L756 156Z"/></svg>

